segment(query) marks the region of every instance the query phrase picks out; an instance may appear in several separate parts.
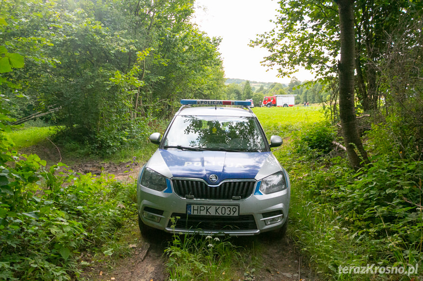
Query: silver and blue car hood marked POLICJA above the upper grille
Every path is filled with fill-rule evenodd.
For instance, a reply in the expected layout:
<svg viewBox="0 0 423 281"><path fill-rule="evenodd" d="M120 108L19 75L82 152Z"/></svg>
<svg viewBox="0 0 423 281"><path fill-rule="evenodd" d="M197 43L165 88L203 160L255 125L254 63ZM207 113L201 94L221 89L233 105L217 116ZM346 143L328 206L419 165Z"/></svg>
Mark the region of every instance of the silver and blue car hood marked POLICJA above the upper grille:
<svg viewBox="0 0 423 281"><path fill-rule="evenodd" d="M166 177L201 178L210 185L224 179L256 179L281 170L272 152L182 151L158 149L146 165ZM215 174L216 182L209 177Z"/></svg>

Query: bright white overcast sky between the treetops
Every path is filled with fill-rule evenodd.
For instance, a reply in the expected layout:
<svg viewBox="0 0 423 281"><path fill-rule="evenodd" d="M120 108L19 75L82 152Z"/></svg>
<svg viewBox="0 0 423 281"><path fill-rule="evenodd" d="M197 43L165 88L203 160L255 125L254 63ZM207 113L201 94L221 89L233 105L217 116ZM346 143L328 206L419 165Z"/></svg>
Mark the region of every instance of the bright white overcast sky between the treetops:
<svg viewBox="0 0 423 281"><path fill-rule="evenodd" d="M260 47L250 47L249 41L271 30L276 19L276 0L196 0L194 22L210 37L221 37L225 78L239 78L257 82L288 84L291 78L277 77L277 70L260 64L269 53ZM300 81L312 80L306 70L293 74Z"/></svg>

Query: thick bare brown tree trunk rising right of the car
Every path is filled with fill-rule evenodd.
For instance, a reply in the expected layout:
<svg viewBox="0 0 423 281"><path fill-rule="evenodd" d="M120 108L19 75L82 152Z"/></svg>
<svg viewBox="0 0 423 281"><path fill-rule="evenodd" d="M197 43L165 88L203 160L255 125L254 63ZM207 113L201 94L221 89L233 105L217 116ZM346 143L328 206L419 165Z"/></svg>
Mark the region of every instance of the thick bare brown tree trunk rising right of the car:
<svg viewBox="0 0 423 281"><path fill-rule="evenodd" d="M341 32L341 60L339 68L339 117L347 148L348 161L358 169L368 162L357 130L354 108L354 0L338 0L339 23ZM364 162L364 163L363 163Z"/></svg>

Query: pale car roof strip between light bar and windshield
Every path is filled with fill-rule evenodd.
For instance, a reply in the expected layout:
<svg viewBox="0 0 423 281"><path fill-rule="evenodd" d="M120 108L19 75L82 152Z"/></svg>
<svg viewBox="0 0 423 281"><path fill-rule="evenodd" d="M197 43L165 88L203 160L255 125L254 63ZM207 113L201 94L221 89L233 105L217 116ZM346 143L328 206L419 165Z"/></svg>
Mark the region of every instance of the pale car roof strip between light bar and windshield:
<svg viewBox="0 0 423 281"><path fill-rule="evenodd" d="M181 108L176 115L255 117L249 110L230 107L187 107Z"/></svg>

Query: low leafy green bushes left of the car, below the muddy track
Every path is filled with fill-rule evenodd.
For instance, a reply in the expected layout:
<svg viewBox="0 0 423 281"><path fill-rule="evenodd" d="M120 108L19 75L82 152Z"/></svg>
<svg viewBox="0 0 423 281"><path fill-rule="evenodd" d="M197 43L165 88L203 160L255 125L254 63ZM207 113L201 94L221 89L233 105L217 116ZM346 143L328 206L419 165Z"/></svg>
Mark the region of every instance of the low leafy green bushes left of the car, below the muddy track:
<svg viewBox="0 0 423 281"><path fill-rule="evenodd" d="M37 155L1 154L1 280L70 280L88 264L81 251L101 250L135 217L134 186L45 165Z"/></svg>

